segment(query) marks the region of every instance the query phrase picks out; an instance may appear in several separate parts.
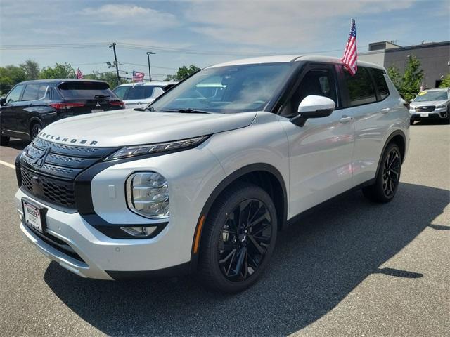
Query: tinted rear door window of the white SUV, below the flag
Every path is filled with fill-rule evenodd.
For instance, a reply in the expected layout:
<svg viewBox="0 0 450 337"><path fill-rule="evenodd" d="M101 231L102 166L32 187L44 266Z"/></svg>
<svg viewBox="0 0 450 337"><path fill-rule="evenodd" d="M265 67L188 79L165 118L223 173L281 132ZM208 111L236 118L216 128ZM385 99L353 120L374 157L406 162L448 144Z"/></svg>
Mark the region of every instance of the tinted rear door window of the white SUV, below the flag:
<svg viewBox="0 0 450 337"><path fill-rule="evenodd" d="M358 67L354 76L351 76L347 70L344 70L344 73L351 107L376 102L375 88L367 68Z"/></svg>

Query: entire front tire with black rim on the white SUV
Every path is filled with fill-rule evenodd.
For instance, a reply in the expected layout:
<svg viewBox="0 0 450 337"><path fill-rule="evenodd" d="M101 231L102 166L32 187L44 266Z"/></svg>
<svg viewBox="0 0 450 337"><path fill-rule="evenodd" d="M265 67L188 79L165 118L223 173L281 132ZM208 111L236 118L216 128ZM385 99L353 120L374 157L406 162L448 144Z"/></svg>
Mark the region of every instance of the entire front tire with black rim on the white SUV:
<svg viewBox="0 0 450 337"><path fill-rule="evenodd" d="M236 229L238 217L238 223L244 221ZM274 202L261 187L231 185L207 216L200 242L200 280L223 293L238 293L257 282L274 252L276 219Z"/></svg>

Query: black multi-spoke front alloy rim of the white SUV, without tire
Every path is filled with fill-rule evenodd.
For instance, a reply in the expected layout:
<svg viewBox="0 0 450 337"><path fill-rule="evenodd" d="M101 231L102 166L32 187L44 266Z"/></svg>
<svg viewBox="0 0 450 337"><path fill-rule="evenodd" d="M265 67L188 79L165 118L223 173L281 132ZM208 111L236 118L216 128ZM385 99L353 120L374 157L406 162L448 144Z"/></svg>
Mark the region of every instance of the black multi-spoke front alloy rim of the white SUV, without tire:
<svg viewBox="0 0 450 337"><path fill-rule="evenodd" d="M252 277L271 242L271 216L258 199L240 202L226 218L219 237L219 267L233 282Z"/></svg>

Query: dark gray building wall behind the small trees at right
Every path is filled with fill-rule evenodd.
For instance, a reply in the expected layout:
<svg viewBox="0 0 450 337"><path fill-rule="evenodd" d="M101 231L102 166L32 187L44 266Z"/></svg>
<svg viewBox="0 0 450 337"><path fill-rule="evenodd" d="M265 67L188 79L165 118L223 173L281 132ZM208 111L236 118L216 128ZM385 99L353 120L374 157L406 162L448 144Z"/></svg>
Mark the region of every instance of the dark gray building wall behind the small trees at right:
<svg viewBox="0 0 450 337"><path fill-rule="evenodd" d="M423 86L433 88L436 81L449 74L450 41L435 44L421 44L418 46L386 49L384 67L399 68L404 73L408 56L414 55L420 60L420 67L424 72Z"/></svg>

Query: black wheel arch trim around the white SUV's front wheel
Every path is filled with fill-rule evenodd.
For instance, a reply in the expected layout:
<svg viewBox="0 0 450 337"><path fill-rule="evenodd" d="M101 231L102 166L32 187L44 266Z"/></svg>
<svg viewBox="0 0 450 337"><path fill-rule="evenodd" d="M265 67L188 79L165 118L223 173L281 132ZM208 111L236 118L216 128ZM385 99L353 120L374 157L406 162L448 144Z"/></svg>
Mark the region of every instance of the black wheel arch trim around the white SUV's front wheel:
<svg viewBox="0 0 450 337"><path fill-rule="evenodd" d="M287 225L287 217L288 217L288 194L286 192L286 186L283 179L283 176L281 175L280 171L276 169L274 166L270 164L264 164L264 163L256 163L256 164L250 164L248 166L243 166L240 169L234 171L233 173L229 174L229 176L226 176L224 180L217 185L217 187L212 191L210 194L210 197L208 197L205 206L203 206L203 209L200 213L200 216L198 217L197 225L195 226L195 232L193 235L192 240L192 250L191 250L191 272L195 271L198 265L198 252L200 251L200 242L203 232L203 225L205 223L205 220L208 216L208 213L210 212L210 209L212 205L214 204L214 201L216 201L217 197L219 197L219 194L223 192L226 187L229 187L231 183L236 181L238 178L245 176L247 173L252 173L256 171L265 171L267 173L273 174L276 179L278 180L278 183L281 185L281 189L283 190L283 211L281 215L278 215L278 220L280 223L279 229L283 229ZM195 250L196 248L196 250ZM194 251L195 250L195 251Z"/></svg>

